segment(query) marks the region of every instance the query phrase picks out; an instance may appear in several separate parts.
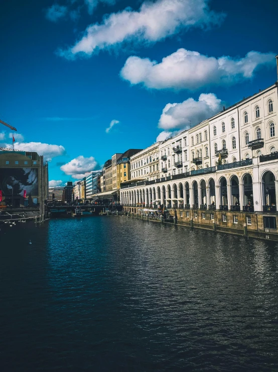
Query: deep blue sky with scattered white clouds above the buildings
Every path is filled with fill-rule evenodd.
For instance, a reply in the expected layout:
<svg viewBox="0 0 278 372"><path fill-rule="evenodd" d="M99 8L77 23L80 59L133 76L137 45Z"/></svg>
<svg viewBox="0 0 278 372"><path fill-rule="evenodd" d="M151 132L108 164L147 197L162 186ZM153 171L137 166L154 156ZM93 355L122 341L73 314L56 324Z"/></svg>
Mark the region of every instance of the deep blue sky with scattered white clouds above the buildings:
<svg viewBox="0 0 278 372"><path fill-rule="evenodd" d="M50 180L74 181L273 84L277 11L274 0L5 2L0 118L17 148L50 160Z"/></svg>

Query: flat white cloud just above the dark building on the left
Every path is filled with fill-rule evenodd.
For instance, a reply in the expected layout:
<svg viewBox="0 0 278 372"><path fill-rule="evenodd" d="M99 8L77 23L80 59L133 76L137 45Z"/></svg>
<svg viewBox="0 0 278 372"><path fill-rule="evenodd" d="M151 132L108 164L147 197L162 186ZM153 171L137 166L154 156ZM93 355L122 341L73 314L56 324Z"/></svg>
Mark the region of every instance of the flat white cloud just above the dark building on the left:
<svg viewBox="0 0 278 372"><path fill-rule="evenodd" d="M11 143L6 143L6 147L11 147ZM48 144L42 142L15 142L15 150L30 151L44 156L44 160L51 160L56 156L64 155L66 150L62 145Z"/></svg>

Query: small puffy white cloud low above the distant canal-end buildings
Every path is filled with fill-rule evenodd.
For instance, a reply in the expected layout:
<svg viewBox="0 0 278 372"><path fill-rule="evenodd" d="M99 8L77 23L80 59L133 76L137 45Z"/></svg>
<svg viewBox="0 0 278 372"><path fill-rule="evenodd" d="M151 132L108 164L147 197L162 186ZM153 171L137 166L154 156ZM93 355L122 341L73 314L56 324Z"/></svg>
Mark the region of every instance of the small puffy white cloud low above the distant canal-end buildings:
<svg viewBox="0 0 278 372"><path fill-rule="evenodd" d="M87 176L91 171L95 170L97 166L98 163L92 156L84 158L80 155L77 158L72 159L69 163L62 165L60 169L66 175L79 179Z"/></svg>

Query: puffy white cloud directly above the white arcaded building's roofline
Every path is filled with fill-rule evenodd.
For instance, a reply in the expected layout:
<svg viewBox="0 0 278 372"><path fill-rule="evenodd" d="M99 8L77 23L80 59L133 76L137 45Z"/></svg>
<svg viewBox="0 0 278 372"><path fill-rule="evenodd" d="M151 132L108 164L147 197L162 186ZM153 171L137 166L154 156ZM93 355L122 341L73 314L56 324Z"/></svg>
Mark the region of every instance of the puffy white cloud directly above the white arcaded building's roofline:
<svg viewBox="0 0 278 372"><path fill-rule="evenodd" d="M159 127L163 129L189 128L221 110L221 100L214 94L201 94L198 101L188 98L182 103L168 103L161 114ZM162 135L162 134L161 134Z"/></svg>

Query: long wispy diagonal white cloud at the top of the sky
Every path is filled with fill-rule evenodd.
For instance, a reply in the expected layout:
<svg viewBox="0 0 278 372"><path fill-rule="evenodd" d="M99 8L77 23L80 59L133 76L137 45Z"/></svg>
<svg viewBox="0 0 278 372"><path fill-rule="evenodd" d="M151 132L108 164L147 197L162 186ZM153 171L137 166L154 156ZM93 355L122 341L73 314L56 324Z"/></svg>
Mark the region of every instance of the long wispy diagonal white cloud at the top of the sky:
<svg viewBox="0 0 278 372"><path fill-rule="evenodd" d="M101 24L88 26L80 41L68 50L59 50L58 55L91 55L126 41L154 43L181 30L219 24L223 15L211 11L207 3L208 0L146 1L138 11L126 8L111 13Z"/></svg>

